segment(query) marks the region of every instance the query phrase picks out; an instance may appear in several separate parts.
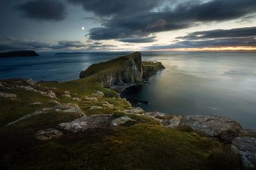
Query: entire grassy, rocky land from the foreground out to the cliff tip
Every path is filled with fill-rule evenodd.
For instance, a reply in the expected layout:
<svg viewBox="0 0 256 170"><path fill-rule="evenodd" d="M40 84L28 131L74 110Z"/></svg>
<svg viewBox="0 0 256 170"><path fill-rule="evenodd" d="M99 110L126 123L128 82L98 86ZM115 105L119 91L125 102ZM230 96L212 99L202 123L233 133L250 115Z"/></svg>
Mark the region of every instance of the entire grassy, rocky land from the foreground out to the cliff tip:
<svg viewBox="0 0 256 170"><path fill-rule="evenodd" d="M147 112L119 97L161 69L135 52L73 81L1 80L0 169L255 169L254 130Z"/></svg>

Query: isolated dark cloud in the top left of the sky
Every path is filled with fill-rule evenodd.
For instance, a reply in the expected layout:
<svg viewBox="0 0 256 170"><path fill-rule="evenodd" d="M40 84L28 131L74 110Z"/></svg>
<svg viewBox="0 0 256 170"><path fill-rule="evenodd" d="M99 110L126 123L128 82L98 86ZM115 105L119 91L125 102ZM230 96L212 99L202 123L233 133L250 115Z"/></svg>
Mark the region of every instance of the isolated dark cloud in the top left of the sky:
<svg viewBox="0 0 256 170"><path fill-rule="evenodd" d="M40 21L61 21L65 18L65 6L58 0L32 0L15 7L23 16Z"/></svg>

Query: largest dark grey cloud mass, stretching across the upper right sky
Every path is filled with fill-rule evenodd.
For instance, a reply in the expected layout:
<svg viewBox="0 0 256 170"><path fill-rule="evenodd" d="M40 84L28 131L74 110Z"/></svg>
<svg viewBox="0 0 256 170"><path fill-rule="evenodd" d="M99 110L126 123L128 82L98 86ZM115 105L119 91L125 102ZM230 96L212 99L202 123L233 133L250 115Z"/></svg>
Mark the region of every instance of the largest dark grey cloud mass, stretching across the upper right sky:
<svg viewBox="0 0 256 170"><path fill-rule="evenodd" d="M86 11L92 11L97 16L111 16L102 23L102 27L90 30L89 37L92 40L148 37L151 33L178 30L213 21L228 21L256 11L255 0L69 1L82 4Z"/></svg>

